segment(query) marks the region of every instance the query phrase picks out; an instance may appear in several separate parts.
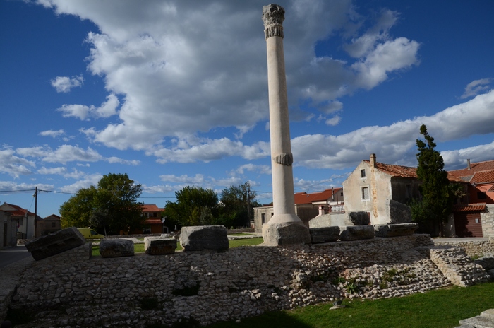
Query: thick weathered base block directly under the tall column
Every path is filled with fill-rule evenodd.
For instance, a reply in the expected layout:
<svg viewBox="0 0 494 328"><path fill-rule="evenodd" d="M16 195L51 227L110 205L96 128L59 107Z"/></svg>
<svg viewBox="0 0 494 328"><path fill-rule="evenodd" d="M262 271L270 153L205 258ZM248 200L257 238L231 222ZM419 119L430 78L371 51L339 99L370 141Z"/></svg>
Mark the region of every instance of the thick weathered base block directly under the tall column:
<svg viewBox="0 0 494 328"><path fill-rule="evenodd" d="M263 245L310 244L311 234L303 223L263 224Z"/></svg>

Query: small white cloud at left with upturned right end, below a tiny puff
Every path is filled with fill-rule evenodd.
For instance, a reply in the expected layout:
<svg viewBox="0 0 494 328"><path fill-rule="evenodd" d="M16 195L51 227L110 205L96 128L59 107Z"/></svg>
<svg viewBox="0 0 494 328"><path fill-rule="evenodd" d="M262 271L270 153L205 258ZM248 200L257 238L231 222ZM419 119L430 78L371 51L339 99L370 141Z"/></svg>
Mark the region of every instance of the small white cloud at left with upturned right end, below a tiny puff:
<svg viewBox="0 0 494 328"><path fill-rule="evenodd" d="M90 120L90 118L111 117L116 115L116 107L119 107L119 98L111 94L107 96L107 101L103 102L100 107L94 105L62 105L58 109L62 112L63 117L76 117L81 120Z"/></svg>

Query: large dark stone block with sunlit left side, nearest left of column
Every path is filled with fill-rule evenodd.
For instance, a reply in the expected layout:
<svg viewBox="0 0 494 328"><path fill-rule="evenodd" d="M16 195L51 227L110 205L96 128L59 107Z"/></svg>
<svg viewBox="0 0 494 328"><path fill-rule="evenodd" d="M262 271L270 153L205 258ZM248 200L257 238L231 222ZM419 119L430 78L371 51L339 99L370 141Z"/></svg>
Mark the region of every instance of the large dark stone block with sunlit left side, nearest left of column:
<svg viewBox="0 0 494 328"><path fill-rule="evenodd" d="M180 233L180 245L183 250L228 250L227 228L223 225L200 225L182 227Z"/></svg>

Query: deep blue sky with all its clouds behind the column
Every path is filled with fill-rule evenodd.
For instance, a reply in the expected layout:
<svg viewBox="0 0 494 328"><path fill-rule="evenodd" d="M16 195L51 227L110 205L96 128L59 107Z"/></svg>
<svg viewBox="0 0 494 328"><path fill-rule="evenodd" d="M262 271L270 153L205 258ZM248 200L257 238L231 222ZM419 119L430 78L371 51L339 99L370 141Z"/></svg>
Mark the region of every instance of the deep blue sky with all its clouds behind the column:
<svg viewBox="0 0 494 328"><path fill-rule="evenodd" d="M296 192L361 160L494 159L494 1L278 1ZM263 1L0 0L0 201L38 214L102 175L145 204L250 181L270 203ZM19 192L26 190L25 192Z"/></svg>

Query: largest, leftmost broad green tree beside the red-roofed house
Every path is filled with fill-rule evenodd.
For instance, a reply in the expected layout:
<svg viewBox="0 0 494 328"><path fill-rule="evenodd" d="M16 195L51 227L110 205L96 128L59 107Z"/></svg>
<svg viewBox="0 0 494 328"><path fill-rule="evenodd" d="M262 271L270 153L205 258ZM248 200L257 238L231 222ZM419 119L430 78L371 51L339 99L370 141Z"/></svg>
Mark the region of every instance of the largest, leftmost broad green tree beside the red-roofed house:
<svg viewBox="0 0 494 328"><path fill-rule="evenodd" d="M92 226L114 234L141 228L143 204L137 201L141 193L141 185L126 174L104 175L97 187L80 189L60 206L62 225Z"/></svg>

